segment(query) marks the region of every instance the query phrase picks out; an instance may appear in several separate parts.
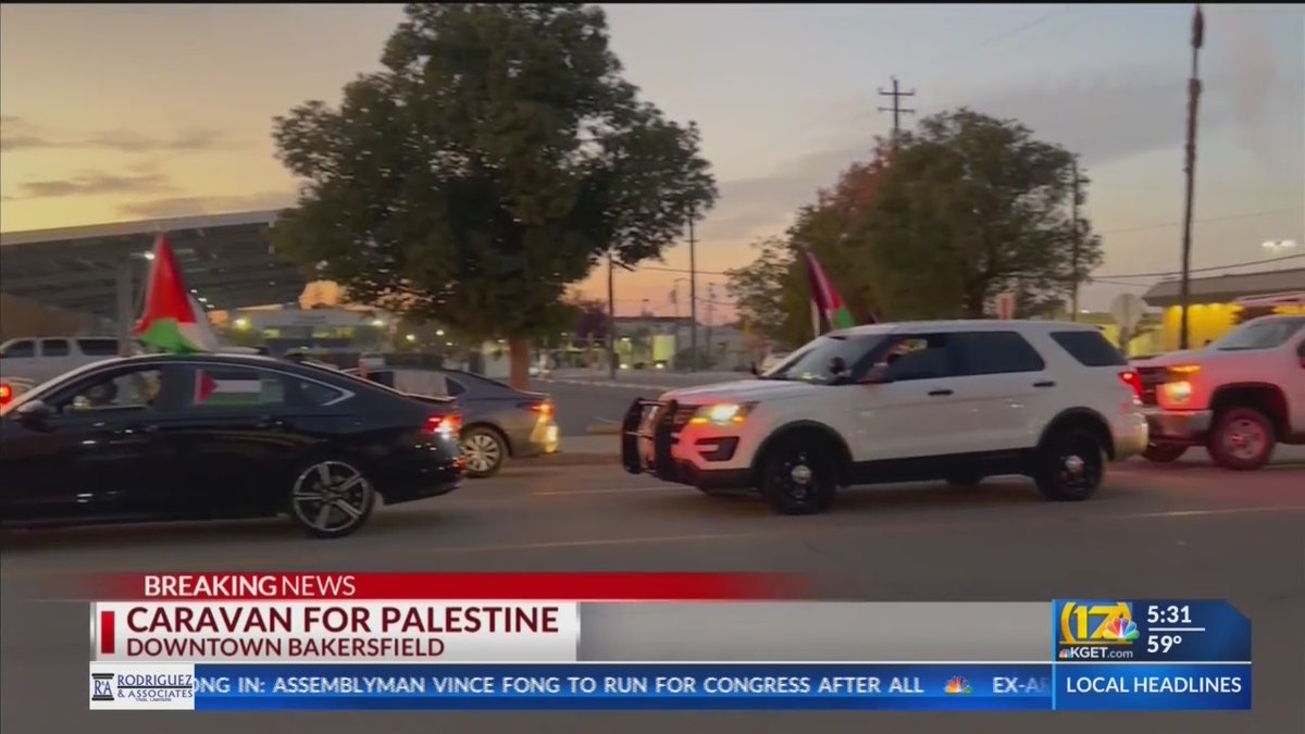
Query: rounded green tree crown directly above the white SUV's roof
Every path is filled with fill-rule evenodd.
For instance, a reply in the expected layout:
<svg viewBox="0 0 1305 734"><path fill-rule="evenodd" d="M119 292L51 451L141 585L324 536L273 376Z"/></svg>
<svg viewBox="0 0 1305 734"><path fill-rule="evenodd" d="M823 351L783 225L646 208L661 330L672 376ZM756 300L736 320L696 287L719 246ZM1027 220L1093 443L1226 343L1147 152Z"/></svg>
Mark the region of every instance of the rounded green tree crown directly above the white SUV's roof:
<svg viewBox="0 0 1305 734"><path fill-rule="evenodd" d="M981 317L1004 290L1015 291L1018 316L1060 307L1101 261L1100 239L1079 217L1071 266L1073 165L1071 153L1013 120L964 108L921 120L919 133L902 136L852 234L885 311Z"/></svg>

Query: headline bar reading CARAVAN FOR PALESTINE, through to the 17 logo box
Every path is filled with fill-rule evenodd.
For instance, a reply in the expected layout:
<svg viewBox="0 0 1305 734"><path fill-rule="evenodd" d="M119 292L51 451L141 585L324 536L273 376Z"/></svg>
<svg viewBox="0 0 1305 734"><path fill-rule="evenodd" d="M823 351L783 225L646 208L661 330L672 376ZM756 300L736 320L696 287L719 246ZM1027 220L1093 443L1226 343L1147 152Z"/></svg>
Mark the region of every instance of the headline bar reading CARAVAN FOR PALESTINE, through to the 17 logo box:
<svg viewBox="0 0 1305 734"><path fill-rule="evenodd" d="M106 662L1250 660L1250 623L1211 601L141 601L90 624Z"/></svg>

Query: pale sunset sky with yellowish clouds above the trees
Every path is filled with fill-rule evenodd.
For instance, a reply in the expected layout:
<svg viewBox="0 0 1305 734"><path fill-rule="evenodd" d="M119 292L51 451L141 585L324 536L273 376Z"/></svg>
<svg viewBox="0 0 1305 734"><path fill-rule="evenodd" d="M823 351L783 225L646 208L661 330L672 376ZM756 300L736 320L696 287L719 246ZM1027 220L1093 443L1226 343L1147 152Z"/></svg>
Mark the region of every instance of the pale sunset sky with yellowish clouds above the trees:
<svg viewBox="0 0 1305 734"><path fill-rule="evenodd" d="M698 266L750 259L864 157L898 76L921 114L1018 118L1083 155L1099 276L1178 266L1190 5L612 5L626 77L697 120L722 200ZM292 202L271 118L378 67L398 5L4 5L0 230ZM1207 7L1195 266L1305 253L1305 9ZM911 119L907 119L910 124ZM664 268L688 268L684 247ZM680 273L619 277L664 315ZM703 276L726 300L724 278ZM1148 279L1134 282L1147 283ZM594 295L606 285L586 286ZM1095 285L1105 308L1118 285ZM683 303L683 302L681 302Z"/></svg>

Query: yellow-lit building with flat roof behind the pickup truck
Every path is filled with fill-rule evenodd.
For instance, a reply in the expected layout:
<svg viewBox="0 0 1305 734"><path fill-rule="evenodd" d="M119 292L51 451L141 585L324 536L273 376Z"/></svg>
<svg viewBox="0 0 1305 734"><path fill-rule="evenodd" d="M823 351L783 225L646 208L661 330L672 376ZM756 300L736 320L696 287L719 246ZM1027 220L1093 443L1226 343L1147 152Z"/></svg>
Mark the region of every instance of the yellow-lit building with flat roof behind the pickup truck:
<svg viewBox="0 0 1305 734"><path fill-rule="evenodd" d="M1263 307L1237 303L1238 299L1246 300L1298 291L1305 291L1305 268L1191 278L1188 281L1188 346L1195 349L1214 341L1246 317L1266 313L1305 313L1305 307L1300 304ZM1161 281L1151 286L1142 300L1147 306L1163 310L1161 350L1178 349L1182 319L1178 281Z"/></svg>

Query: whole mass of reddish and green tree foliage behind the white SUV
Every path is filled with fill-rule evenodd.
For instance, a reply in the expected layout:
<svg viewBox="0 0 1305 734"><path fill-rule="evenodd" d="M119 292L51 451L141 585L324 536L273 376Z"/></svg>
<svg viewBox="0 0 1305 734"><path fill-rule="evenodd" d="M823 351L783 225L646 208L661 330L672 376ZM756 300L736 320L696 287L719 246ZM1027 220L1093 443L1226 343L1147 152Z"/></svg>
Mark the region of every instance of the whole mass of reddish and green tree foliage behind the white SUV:
<svg viewBox="0 0 1305 734"><path fill-rule="evenodd" d="M796 257L806 248L857 321L983 317L1007 289L1017 316L1049 317L1101 261L1081 212L1073 265L1073 165L1011 120L964 108L927 118L820 192L787 238L761 243L754 263L731 270L731 295L770 338L810 338Z"/></svg>

